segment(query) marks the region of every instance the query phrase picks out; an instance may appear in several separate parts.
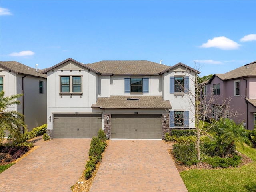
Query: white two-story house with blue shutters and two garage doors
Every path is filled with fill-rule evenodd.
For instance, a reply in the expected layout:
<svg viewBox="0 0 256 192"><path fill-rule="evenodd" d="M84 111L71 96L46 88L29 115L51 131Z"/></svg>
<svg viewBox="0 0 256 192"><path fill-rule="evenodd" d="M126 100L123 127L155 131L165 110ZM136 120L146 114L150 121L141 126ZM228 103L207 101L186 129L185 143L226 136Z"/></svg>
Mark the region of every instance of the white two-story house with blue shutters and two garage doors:
<svg viewBox="0 0 256 192"><path fill-rule="evenodd" d="M44 73L51 137L92 138L102 129L109 138L162 139L170 128L194 128L188 90L196 71L182 63L68 58Z"/></svg>

